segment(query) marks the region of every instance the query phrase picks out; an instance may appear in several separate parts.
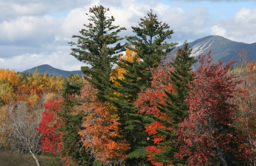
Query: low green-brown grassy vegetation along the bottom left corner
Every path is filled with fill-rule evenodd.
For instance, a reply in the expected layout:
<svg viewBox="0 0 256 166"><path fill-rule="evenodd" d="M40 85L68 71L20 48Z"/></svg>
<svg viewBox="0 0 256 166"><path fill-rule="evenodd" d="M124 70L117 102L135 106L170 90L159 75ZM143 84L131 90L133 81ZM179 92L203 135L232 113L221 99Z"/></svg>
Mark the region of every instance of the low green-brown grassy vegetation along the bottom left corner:
<svg viewBox="0 0 256 166"><path fill-rule="evenodd" d="M40 166L63 166L64 160L60 156L37 155ZM36 166L31 155L0 151L0 166Z"/></svg>

